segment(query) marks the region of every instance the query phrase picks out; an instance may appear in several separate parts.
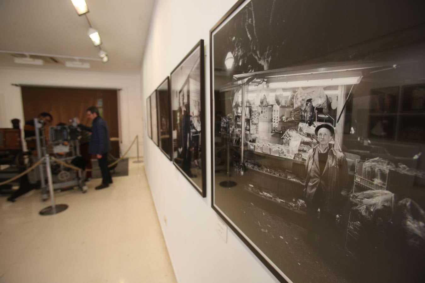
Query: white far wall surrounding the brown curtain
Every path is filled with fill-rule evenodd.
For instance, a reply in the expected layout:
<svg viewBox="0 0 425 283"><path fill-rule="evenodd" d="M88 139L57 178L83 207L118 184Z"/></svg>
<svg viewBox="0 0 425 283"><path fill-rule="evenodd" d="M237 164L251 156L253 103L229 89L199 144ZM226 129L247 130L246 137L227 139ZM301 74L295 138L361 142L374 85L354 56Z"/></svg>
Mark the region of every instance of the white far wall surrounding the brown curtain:
<svg viewBox="0 0 425 283"><path fill-rule="evenodd" d="M140 76L116 73L98 73L89 70L48 70L41 68L0 68L0 127L10 128L10 120L24 120L20 87L12 84L31 84L55 87L117 88L119 91L119 119L121 152L124 153L139 134L143 147L143 113L140 97ZM81 102L84 105L84 101ZM88 106L84 106L88 107ZM140 150L140 155L143 152ZM127 156L137 156L136 145Z"/></svg>

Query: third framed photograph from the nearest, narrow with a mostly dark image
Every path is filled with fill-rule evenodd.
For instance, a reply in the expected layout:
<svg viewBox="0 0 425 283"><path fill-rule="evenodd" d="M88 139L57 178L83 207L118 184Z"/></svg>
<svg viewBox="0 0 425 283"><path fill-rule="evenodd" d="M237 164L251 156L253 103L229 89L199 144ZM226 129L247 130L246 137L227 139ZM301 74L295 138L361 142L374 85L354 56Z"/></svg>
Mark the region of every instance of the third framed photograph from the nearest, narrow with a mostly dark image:
<svg viewBox="0 0 425 283"><path fill-rule="evenodd" d="M170 78L167 77L156 89L158 98L159 149L171 160L173 139L171 132Z"/></svg>

